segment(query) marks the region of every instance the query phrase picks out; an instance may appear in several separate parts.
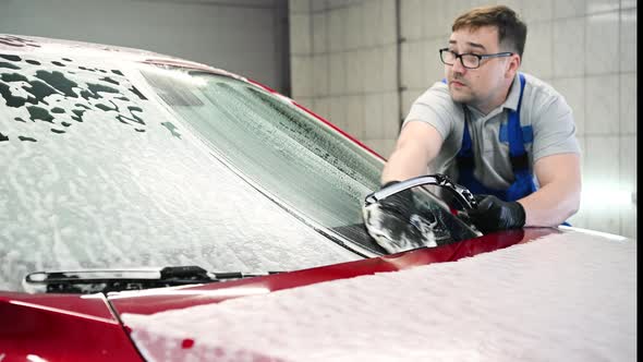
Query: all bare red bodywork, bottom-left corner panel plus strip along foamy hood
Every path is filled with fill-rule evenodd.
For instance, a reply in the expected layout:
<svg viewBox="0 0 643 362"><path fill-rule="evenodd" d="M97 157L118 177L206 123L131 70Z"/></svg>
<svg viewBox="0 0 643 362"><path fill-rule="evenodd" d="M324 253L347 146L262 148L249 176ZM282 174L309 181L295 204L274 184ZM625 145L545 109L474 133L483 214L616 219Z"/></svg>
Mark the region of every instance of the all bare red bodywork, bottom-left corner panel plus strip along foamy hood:
<svg viewBox="0 0 643 362"><path fill-rule="evenodd" d="M0 291L0 361L136 361L120 314L154 314L223 300L264 294L322 281L393 272L502 249L550 229L515 230L430 250L325 267L193 287L110 294L27 294ZM109 300L109 301L108 301Z"/></svg>

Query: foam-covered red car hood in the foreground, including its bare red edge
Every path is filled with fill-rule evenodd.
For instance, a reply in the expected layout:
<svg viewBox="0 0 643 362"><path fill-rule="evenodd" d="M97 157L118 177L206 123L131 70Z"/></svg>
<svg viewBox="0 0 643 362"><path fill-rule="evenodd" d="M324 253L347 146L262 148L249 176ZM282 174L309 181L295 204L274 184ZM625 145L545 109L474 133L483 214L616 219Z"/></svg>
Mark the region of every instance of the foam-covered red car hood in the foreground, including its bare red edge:
<svg viewBox="0 0 643 362"><path fill-rule="evenodd" d="M110 302L151 360L633 360L635 253L526 229Z"/></svg>

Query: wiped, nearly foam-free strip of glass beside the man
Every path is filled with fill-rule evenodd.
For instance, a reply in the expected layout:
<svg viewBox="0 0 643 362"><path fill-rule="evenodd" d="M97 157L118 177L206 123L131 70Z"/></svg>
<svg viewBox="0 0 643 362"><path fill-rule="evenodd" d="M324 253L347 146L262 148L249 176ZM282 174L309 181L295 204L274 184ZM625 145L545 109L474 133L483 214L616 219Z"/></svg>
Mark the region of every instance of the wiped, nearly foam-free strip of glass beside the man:
<svg viewBox="0 0 643 362"><path fill-rule="evenodd" d="M244 82L175 69L143 74L168 107L244 177L305 218L385 253L362 220L365 196L379 188L379 159L288 100ZM442 243L476 236L427 189L415 194L433 209Z"/></svg>

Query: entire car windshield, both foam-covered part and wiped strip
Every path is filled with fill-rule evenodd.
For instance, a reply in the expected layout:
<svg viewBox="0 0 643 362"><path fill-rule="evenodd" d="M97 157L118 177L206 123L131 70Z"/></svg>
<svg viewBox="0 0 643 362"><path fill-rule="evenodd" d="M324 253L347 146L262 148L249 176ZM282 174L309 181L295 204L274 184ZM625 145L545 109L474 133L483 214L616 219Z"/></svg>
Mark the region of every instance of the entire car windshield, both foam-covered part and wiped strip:
<svg viewBox="0 0 643 362"><path fill-rule="evenodd" d="M0 290L36 270L385 253L361 214L384 162L288 99L179 67L0 57Z"/></svg>

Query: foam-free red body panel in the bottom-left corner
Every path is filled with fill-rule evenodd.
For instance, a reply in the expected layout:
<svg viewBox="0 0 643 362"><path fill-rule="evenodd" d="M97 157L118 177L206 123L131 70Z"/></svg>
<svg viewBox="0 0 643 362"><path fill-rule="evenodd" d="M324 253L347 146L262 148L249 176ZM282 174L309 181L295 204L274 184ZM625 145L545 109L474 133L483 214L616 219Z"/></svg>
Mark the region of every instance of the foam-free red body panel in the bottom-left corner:
<svg viewBox="0 0 643 362"><path fill-rule="evenodd" d="M0 292L2 362L142 361L105 299Z"/></svg>

